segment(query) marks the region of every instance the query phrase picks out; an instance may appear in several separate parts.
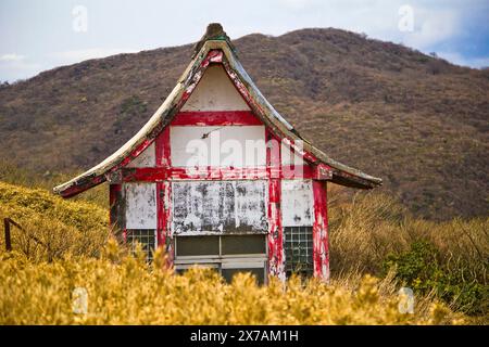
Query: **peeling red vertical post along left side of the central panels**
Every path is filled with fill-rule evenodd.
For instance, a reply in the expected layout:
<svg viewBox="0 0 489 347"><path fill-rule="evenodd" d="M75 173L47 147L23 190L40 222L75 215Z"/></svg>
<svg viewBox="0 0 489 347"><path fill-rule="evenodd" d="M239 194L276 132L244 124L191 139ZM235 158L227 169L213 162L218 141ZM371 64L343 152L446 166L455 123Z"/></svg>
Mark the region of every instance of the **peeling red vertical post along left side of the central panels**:
<svg viewBox="0 0 489 347"><path fill-rule="evenodd" d="M155 140L156 167L170 168L172 166L170 149L170 127L165 127ZM158 246L164 247L167 255L168 267L173 267L174 243L172 234L172 182L156 181L156 209L158 209Z"/></svg>

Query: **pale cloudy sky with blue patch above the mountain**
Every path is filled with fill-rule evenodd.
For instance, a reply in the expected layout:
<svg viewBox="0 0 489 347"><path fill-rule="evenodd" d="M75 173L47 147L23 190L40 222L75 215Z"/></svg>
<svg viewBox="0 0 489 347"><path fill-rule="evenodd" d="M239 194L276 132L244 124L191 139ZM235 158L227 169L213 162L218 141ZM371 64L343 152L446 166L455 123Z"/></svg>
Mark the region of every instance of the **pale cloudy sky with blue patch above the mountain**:
<svg viewBox="0 0 489 347"><path fill-rule="evenodd" d="M489 0L0 0L0 81L193 42L211 22L231 38L336 27L489 66Z"/></svg>

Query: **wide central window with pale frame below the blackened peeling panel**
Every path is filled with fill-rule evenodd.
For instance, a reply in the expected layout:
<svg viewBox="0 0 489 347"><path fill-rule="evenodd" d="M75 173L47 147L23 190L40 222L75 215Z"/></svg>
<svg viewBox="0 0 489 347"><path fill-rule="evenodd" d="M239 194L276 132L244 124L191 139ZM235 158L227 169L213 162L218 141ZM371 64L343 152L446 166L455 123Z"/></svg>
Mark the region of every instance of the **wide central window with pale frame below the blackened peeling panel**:
<svg viewBox="0 0 489 347"><path fill-rule="evenodd" d="M199 235L175 237L175 268L193 265L216 269L226 281L251 272L259 284L266 279L266 234Z"/></svg>

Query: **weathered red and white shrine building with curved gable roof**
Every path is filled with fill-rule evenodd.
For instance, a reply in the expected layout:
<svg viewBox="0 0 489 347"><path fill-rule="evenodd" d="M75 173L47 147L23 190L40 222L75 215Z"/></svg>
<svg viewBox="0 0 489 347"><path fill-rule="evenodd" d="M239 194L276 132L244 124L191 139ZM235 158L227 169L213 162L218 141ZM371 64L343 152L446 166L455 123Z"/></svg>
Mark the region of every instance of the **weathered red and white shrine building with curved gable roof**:
<svg viewBox="0 0 489 347"><path fill-rule="evenodd" d="M63 197L109 182L111 224L125 242L261 282L329 277L327 182L381 180L313 146L259 91L221 25L149 121L113 155L54 188Z"/></svg>

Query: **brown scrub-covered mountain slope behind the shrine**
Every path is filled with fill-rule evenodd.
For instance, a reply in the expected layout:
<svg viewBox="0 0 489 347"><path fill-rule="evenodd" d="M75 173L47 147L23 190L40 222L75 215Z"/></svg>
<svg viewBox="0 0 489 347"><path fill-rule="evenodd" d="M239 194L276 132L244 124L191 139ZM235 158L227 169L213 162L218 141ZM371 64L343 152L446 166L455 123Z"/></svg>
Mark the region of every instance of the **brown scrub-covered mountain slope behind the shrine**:
<svg viewBox="0 0 489 347"><path fill-rule="evenodd" d="M488 70L337 29L234 43L264 95L306 139L381 177L415 214L487 214ZM188 44L120 54L2 87L0 157L39 172L89 168L148 120L190 53Z"/></svg>

